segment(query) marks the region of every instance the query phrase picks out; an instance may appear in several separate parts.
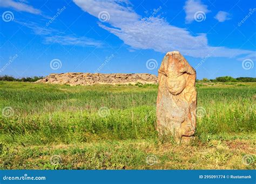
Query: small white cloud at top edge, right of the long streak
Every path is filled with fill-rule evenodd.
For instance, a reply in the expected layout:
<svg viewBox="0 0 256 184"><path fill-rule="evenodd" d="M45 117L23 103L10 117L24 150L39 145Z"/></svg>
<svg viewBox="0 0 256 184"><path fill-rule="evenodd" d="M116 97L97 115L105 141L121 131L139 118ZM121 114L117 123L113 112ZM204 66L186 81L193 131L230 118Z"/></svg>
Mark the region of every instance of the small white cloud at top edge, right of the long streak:
<svg viewBox="0 0 256 184"><path fill-rule="evenodd" d="M203 12L202 16L206 16L208 12L211 12L207 9L207 5L201 3L200 0L187 0L184 6L184 10L186 13L186 23L192 23L195 20L198 12Z"/></svg>

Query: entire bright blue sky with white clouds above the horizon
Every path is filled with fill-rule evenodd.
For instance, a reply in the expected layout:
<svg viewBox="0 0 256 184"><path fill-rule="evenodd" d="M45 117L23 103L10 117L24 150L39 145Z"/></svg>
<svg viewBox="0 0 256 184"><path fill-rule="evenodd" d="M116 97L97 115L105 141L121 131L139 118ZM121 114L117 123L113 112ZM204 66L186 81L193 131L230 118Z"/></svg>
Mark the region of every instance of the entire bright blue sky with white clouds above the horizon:
<svg viewBox="0 0 256 184"><path fill-rule="evenodd" d="M256 76L256 3L4 0L0 75L156 74L179 51L198 79Z"/></svg>

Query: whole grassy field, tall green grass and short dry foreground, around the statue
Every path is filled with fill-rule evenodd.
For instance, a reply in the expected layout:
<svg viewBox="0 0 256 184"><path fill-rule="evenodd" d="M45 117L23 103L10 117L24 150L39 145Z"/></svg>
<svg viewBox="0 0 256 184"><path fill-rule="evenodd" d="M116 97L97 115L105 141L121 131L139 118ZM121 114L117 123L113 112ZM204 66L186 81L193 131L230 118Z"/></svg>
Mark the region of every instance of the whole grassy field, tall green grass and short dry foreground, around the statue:
<svg viewBox="0 0 256 184"><path fill-rule="evenodd" d="M198 83L196 140L155 130L157 86L0 82L1 169L255 169L256 83Z"/></svg>

